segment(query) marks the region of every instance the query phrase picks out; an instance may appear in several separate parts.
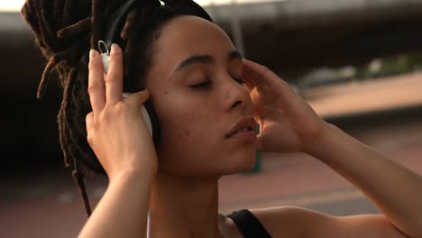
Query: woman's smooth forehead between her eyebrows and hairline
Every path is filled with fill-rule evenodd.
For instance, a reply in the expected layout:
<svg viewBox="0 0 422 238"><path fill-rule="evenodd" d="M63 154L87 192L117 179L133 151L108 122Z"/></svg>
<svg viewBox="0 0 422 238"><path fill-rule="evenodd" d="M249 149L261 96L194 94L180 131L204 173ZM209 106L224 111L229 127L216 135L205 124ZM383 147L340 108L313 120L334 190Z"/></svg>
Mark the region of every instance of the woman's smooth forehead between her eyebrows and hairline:
<svg viewBox="0 0 422 238"><path fill-rule="evenodd" d="M196 16L178 16L167 23L155 44L157 66L168 68L193 55L210 55L217 61L226 59L234 45L215 23Z"/></svg>

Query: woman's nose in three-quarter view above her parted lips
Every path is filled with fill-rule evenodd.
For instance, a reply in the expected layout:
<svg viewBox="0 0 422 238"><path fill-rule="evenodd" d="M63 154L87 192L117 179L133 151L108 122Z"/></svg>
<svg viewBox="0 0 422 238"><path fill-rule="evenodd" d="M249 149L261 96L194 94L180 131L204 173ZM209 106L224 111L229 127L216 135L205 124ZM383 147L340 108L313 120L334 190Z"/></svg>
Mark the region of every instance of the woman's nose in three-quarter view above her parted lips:
<svg viewBox="0 0 422 238"><path fill-rule="evenodd" d="M246 87L236 82L233 78L227 78L224 84L223 101L225 111L239 110L242 114L252 107L251 96Z"/></svg>

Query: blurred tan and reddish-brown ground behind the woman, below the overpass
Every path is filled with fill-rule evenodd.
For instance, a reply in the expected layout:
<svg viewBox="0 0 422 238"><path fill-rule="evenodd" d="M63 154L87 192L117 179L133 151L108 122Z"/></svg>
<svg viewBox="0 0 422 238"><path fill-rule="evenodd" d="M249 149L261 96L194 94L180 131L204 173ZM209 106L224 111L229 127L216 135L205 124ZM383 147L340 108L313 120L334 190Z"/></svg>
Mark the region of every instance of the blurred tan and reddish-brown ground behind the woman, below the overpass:
<svg viewBox="0 0 422 238"><path fill-rule="evenodd" d="M400 79L400 80L399 80ZM327 121L422 175L422 75L308 89L303 95ZM370 113L375 112L375 113ZM95 206L104 178L88 178ZM379 213L353 186L306 154L262 154L261 172L220 180L220 210L305 206L331 215ZM75 237L85 222L69 170L33 171L0 181L0 237Z"/></svg>

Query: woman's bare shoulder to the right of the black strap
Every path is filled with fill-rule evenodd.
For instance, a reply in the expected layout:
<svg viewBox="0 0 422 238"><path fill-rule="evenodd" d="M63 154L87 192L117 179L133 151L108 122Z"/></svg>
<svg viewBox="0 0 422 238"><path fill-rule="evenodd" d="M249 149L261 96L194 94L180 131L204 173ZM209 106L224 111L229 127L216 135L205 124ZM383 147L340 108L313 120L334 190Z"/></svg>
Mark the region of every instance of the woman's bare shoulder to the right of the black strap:
<svg viewBox="0 0 422 238"><path fill-rule="evenodd" d="M250 209L277 237L406 237L383 215L326 215L298 206Z"/></svg>

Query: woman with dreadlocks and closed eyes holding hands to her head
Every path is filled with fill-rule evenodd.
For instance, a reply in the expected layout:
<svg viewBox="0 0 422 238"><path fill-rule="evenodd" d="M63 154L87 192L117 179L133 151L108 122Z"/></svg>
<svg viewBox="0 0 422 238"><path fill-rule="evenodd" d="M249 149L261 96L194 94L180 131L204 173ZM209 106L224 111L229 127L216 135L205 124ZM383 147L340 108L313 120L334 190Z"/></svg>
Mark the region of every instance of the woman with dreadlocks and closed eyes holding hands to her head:
<svg viewBox="0 0 422 238"><path fill-rule="evenodd" d="M51 69L64 87L60 143L88 214L84 174L109 178L80 237L142 237L148 212L150 237L422 237L422 179L323 121L270 69L243 59L193 2L134 5L104 81L97 50L88 65L88 42L96 48L101 19L123 2L96 1L92 14L87 1L23 6L50 59L39 96ZM123 100L124 91L133 95ZM155 146L140 110L148 99L161 127ZM382 215L286 206L219 215L218 178L252 169L257 150L321 160Z"/></svg>

